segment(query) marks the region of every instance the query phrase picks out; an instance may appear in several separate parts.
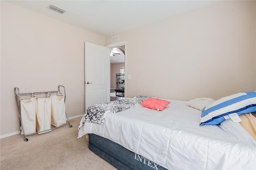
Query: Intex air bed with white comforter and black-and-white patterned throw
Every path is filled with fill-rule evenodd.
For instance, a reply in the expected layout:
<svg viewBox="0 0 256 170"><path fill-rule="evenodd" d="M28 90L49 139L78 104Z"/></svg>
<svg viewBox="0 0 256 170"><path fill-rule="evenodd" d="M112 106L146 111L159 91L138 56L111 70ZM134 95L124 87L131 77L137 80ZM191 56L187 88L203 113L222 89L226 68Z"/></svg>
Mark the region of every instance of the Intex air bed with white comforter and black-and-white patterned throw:
<svg viewBox="0 0 256 170"><path fill-rule="evenodd" d="M118 169L256 169L256 141L240 123L200 126L187 101L161 99L170 104L157 111L141 105L148 98L89 107L78 138L89 134L90 150Z"/></svg>

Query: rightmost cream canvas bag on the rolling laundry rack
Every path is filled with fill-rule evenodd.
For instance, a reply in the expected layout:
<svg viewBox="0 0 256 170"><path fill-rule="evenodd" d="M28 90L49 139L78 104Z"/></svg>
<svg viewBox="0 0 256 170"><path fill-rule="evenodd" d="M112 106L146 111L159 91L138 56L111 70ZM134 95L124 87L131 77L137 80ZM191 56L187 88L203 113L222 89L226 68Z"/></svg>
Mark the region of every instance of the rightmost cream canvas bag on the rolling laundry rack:
<svg viewBox="0 0 256 170"><path fill-rule="evenodd" d="M59 127L66 123L66 110L64 97L58 92L57 95L51 95L52 100L52 125Z"/></svg>

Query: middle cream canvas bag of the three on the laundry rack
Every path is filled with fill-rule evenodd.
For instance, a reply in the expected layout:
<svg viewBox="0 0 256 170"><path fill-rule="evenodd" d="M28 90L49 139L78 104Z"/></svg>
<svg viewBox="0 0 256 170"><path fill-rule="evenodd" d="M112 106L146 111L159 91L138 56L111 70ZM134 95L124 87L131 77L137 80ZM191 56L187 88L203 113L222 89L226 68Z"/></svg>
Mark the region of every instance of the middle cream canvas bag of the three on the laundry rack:
<svg viewBox="0 0 256 170"><path fill-rule="evenodd" d="M38 134L51 131L51 98L38 98L36 107L36 129ZM49 129L49 130L48 130ZM44 131L47 130L47 131ZM41 132L44 131L44 132Z"/></svg>

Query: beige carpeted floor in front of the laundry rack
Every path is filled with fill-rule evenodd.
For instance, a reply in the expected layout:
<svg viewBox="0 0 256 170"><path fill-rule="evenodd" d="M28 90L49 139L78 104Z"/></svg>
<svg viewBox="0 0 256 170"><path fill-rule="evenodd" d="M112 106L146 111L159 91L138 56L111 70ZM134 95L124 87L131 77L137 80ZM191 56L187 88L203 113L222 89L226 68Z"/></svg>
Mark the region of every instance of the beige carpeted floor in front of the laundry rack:
<svg viewBox="0 0 256 170"><path fill-rule="evenodd" d="M0 140L1 170L116 170L88 148L88 138L78 136L81 117L44 134L16 134Z"/></svg>

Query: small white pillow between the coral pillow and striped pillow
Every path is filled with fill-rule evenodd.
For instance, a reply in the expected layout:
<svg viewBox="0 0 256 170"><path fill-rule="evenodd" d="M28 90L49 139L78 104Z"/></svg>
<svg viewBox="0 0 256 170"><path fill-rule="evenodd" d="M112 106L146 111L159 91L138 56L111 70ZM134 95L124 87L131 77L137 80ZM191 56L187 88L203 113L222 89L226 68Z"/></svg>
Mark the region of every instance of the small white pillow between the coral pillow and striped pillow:
<svg viewBox="0 0 256 170"><path fill-rule="evenodd" d="M187 104L188 104L188 106L193 107L194 109L198 109L198 110L202 111L206 105L208 105L214 101L215 100L212 98L202 97L202 98L192 99L192 100L188 101Z"/></svg>

